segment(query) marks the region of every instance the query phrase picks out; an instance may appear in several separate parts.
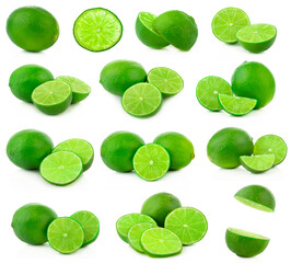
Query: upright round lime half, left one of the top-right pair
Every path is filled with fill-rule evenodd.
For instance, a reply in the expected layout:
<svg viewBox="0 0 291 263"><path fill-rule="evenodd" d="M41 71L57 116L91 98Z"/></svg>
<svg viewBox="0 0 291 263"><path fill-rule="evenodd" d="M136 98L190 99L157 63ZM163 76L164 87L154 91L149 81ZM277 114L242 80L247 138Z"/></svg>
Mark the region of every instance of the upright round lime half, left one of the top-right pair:
<svg viewBox="0 0 291 263"><path fill-rule="evenodd" d="M236 43L236 33L249 24L249 19L243 10L225 8L214 15L211 27L214 36L221 42Z"/></svg>

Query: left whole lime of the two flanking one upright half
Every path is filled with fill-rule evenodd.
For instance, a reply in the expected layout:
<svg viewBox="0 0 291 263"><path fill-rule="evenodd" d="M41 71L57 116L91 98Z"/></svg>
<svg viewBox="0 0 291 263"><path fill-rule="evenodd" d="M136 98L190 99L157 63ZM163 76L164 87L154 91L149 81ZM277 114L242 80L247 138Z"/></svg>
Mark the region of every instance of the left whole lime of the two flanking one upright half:
<svg viewBox="0 0 291 263"><path fill-rule="evenodd" d="M102 142L101 157L109 169L117 172L130 172L133 170L133 156L143 145L142 138L136 134L116 132Z"/></svg>

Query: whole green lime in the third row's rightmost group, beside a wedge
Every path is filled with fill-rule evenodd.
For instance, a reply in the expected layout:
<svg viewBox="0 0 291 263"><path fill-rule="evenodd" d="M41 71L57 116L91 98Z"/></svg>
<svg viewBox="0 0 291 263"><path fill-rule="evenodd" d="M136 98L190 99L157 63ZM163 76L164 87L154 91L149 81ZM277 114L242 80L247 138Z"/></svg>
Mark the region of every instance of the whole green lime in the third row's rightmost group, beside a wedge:
<svg viewBox="0 0 291 263"><path fill-rule="evenodd" d="M207 145L207 155L211 162L221 168L237 168L241 156L252 156L252 137L240 128L224 128L216 133Z"/></svg>

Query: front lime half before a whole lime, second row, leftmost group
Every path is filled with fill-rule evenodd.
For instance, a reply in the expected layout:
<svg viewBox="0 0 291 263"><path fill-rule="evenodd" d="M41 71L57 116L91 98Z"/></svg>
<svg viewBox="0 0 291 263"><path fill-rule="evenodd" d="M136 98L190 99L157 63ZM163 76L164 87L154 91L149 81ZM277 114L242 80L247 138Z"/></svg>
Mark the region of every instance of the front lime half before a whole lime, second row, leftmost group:
<svg viewBox="0 0 291 263"><path fill-rule="evenodd" d="M65 112L72 102L72 90L63 81L53 80L38 85L32 94L33 103L46 114Z"/></svg>

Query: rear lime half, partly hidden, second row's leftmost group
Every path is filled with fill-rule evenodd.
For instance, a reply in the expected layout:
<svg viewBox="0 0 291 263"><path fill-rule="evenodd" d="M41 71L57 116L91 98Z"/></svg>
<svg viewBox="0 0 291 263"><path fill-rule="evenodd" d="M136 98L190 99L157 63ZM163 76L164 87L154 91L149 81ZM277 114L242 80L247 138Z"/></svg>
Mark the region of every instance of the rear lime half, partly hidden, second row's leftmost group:
<svg viewBox="0 0 291 263"><path fill-rule="evenodd" d="M72 103L78 103L86 99L91 92L90 85L82 80L70 76L60 76L56 80L60 80L69 84L72 89Z"/></svg>

